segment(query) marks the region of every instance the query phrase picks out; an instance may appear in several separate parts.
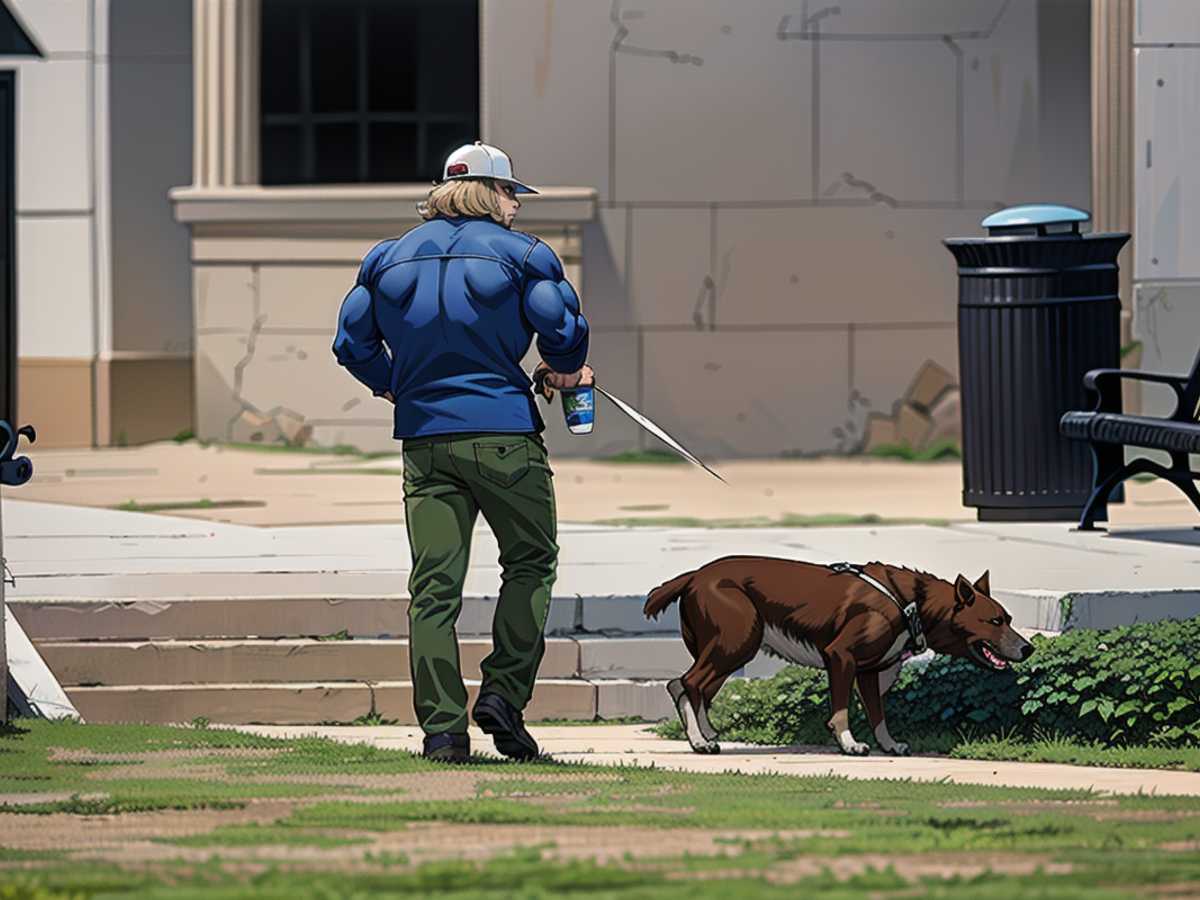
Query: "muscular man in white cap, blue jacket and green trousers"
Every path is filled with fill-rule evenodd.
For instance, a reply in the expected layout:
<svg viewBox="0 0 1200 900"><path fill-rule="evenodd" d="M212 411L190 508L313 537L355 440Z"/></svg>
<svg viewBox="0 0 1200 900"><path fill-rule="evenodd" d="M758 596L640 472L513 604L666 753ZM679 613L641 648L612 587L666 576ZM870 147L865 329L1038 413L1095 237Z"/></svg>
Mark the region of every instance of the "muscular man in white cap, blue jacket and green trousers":
<svg viewBox="0 0 1200 900"><path fill-rule="evenodd" d="M470 752L455 623L479 514L503 575L472 716L505 756L538 755L522 710L545 652L558 545L545 425L521 360L536 337L547 400L593 383L588 323L562 263L511 230L522 193L536 191L512 176L502 150L455 150L418 206L425 223L364 258L334 341L337 361L395 403L413 552L413 700L425 756L450 762Z"/></svg>

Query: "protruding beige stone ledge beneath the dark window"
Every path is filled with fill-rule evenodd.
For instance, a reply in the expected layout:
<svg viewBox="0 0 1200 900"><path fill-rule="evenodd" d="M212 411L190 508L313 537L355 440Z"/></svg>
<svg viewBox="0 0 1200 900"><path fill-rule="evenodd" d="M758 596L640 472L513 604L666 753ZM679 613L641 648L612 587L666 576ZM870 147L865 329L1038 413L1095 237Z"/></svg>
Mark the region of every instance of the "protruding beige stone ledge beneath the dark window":
<svg viewBox="0 0 1200 900"><path fill-rule="evenodd" d="M218 222L420 222L416 204L428 185L346 185L330 187L175 187L175 220ZM595 218L594 187L544 187L522 196L520 222L583 224Z"/></svg>

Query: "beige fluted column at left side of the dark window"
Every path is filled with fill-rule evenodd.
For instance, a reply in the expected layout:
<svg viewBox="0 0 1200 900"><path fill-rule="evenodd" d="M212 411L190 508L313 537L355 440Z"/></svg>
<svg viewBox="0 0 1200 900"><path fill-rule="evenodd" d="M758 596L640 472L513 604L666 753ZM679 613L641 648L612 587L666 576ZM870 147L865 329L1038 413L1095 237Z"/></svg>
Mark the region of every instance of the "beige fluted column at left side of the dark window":
<svg viewBox="0 0 1200 900"><path fill-rule="evenodd" d="M258 184L259 0L194 0L193 187Z"/></svg>

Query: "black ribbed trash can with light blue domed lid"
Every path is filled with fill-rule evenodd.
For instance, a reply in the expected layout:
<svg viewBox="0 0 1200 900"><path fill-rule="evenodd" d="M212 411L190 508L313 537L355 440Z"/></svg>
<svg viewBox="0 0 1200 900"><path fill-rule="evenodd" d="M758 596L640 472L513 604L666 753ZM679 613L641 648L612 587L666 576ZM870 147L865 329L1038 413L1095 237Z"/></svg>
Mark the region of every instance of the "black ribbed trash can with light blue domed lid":
<svg viewBox="0 0 1200 900"><path fill-rule="evenodd" d="M980 521L1078 521L1091 494L1092 455L1058 419L1088 408L1088 370L1121 365L1129 235L1080 234L1088 217L1014 206L983 220L988 238L943 241L959 264L962 503Z"/></svg>

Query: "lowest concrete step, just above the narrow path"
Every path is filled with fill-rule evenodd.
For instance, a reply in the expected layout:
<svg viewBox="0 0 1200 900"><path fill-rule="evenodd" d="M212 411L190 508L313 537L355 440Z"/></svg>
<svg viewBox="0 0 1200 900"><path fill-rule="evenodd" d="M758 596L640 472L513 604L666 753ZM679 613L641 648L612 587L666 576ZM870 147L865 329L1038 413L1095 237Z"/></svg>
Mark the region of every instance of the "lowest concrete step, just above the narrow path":
<svg viewBox="0 0 1200 900"><path fill-rule="evenodd" d="M371 712L401 725L415 725L410 682L295 683L295 684L144 684L67 688L67 696L89 722L190 722L197 718L230 725L348 724ZM474 703L479 682L468 680ZM582 678L540 679L526 719L593 720L623 718L640 703L650 709L661 684L600 688ZM601 696L604 700L601 701Z"/></svg>

